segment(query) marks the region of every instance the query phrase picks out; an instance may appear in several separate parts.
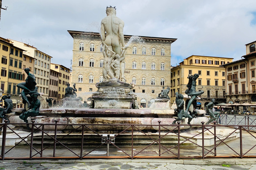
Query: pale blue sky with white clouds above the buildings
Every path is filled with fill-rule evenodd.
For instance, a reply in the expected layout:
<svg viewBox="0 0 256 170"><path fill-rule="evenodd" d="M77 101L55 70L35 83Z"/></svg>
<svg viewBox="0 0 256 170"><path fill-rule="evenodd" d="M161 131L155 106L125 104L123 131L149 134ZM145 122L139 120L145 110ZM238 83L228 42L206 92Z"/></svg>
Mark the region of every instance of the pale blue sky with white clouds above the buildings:
<svg viewBox="0 0 256 170"><path fill-rule="evenodd" d="M171 46L175 66L191 55L245 55L256 40L255 0L97 1L3 0L0 37L33 45L70 67L73 38L67 30L99 32L106 7L116 6L126 35L177 38Z"/></svg>

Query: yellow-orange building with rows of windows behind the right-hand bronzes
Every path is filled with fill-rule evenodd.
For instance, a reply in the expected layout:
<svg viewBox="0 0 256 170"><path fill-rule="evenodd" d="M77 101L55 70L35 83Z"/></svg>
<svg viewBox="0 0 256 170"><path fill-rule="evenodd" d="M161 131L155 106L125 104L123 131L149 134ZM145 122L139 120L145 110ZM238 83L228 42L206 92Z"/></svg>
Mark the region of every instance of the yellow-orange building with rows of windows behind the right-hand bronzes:
<svg viewBox="0 0 256 170"><path fill-rule="evenodd" d="M222 64L230 63L233 58L192 55L171 69L171 104L175 101L175 92L185 95L188 75L199 74L197 91L204 91L199 96L197 108L204 108L212 98L217 103L226 101L226 73ZM188 101L188 100L187 100Z"/></svg>

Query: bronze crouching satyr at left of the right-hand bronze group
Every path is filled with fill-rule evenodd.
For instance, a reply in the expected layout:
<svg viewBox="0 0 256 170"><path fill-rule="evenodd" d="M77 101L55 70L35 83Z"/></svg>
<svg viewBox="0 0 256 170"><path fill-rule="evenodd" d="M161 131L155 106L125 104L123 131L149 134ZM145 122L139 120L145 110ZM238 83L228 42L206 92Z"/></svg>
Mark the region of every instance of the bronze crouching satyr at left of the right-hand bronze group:
<svg viewBox="0 0 256 170"><path fill-rule="evenodd" d="M172 122L172 124L175 124L177 121L181 121L182 117L187 117L188 118L188 124L190 124L193 117L190 114L184 112L183 95L178 94L178 92L176 92L175 95L176 95L175 102L176 102L177 108L175 108L174 111L178 114L178 117L176 118L176 120L174 120Z"/></svg>

